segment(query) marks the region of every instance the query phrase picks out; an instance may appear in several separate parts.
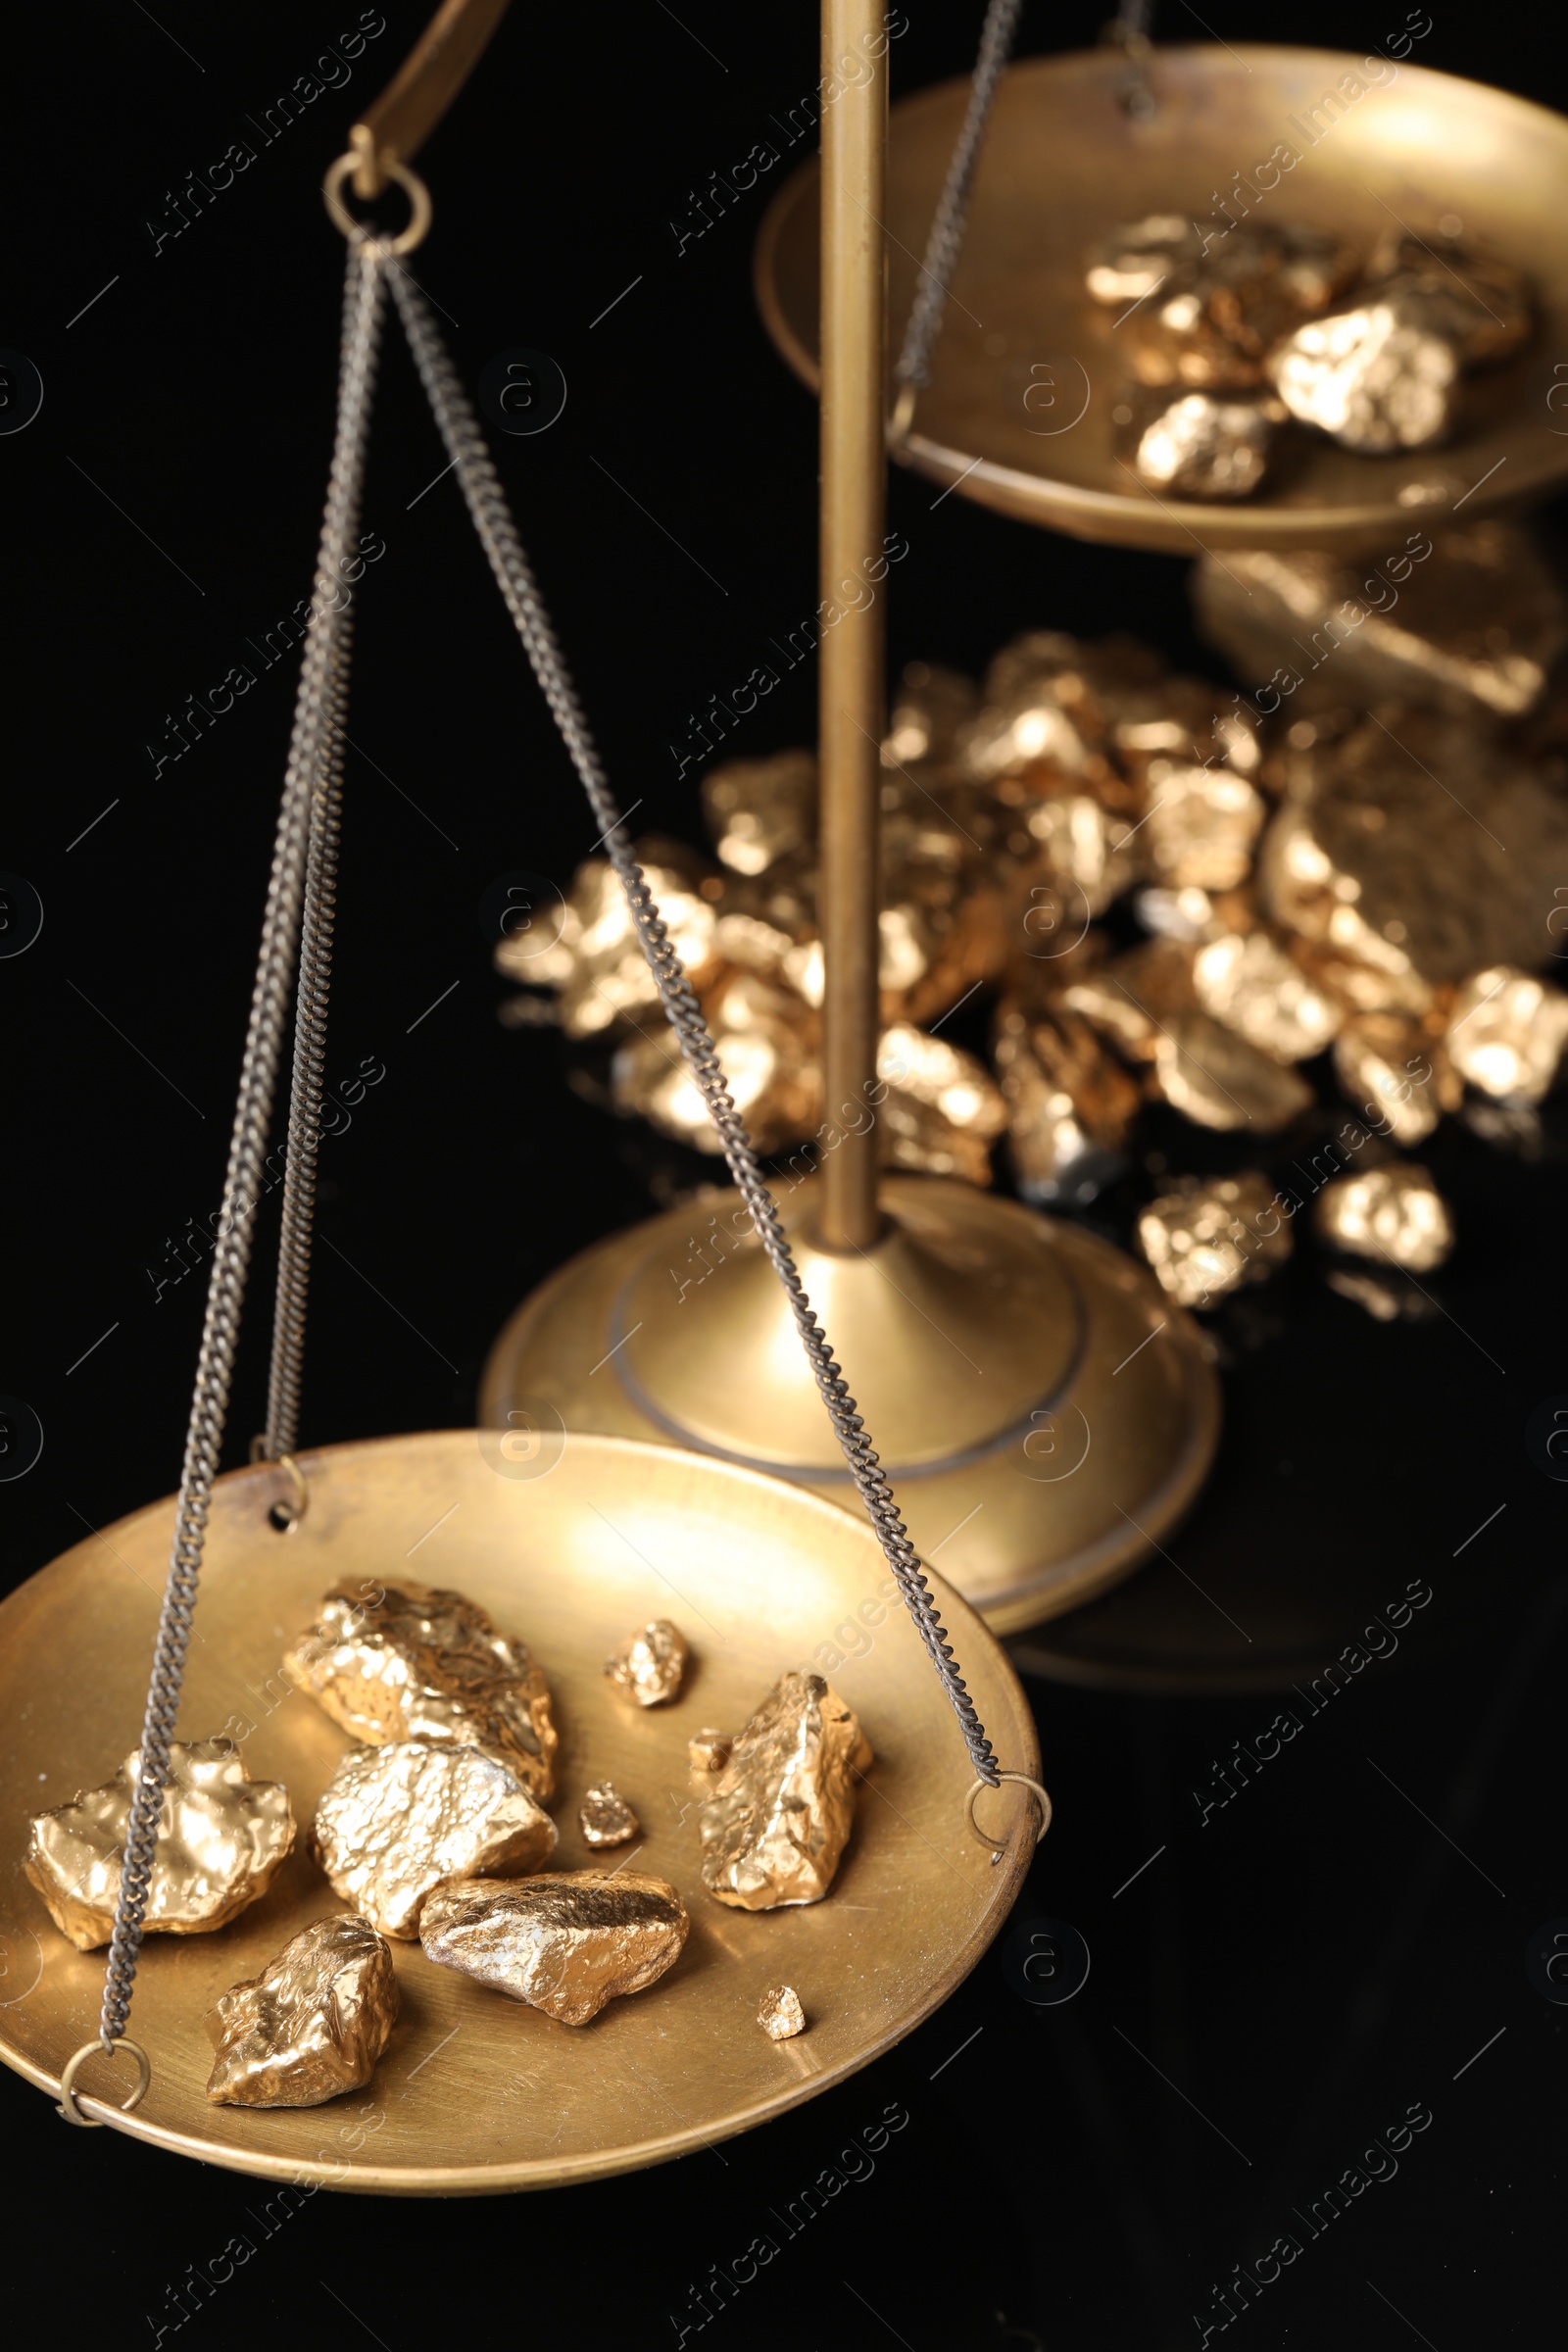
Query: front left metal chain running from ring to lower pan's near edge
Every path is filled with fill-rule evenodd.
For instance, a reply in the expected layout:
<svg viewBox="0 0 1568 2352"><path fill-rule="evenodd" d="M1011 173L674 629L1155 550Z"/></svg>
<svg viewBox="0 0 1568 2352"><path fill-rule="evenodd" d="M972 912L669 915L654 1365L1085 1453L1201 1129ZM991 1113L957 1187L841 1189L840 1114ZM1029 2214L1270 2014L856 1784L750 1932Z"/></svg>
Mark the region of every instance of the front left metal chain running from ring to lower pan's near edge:
<svg viewBox="0 0 1568 2352"><path fill-rule="evenodd" d="M141 1726L136 1795L125 1835L120 1900L108 1945L108 1976L99 2018L99 2042L103 2049L113 2049L125 2034L132 2009L136 1957L141 1952L153 1879L153 1849L158 1844L162 1792L169 1778L169 1743L179 1717L190 1616L202 1569L202 1545L207 1541L212 1482L219 1472L219 1449L228 1418L240 1303L244 1298L244 1275L252 1254L252 1214L261 1197L261 1162L273 1115L277 1063L282 1058L282 1028L306 891L310 804L322 788L322 779L331 774L334 694L341 687L348 659L343 614L334 607L341 600L343 557L350 555L360 522L360 482L364 473L364 435L383 287L386 247L371 240L355 245L348 256L348 287L343 296L339 426L315 564L310 633L306 637L299 701L294 706L294 736L289 741L273 873L261 924L261 957L244 1037L240 1101L228 1148L228 1174L223 1178L223 1214L219 1218L219 1242L212 1254L212 1279L207 1284L207 1319L195 1371L195 1397L174 1519L174 1550L169 1555L169 1578L158 1618L153 1679Z"/></svg>

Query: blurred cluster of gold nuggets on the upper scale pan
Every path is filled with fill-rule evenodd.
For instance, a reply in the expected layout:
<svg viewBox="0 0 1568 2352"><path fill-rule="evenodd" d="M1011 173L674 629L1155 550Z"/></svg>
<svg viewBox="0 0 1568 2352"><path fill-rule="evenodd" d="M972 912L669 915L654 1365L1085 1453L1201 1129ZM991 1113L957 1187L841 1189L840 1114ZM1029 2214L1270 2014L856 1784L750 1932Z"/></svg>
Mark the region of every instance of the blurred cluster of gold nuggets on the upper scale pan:
<svg viewBox="0 0 1568 2352"><path fill-rule="evenodd" d="M1530 289L1458 235L1399 226L1359 254L1281 221L1201 230L1154 214L1088 256L1133 383L1112 409L1126 459L1175 499L1246 499L1291 423L1342 449L1432 449L1462 379L1530 339Z"/></svg>

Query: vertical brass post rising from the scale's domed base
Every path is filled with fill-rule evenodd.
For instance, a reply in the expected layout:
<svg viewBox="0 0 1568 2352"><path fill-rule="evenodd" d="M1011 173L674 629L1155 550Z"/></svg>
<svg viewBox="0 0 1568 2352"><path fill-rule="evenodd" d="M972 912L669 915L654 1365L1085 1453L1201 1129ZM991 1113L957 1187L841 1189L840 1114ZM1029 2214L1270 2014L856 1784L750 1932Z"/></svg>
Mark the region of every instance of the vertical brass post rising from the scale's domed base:
<svg viewBox="0 0 1568 2352"><path fill-rule="evenodd" d="M877 1216L877 802L884 729L886 33L882 0L823 0L820 482L820 1240L870 1249ZM837 92L837 94L835 94ZM839 619L835 621L835 612Z"/></svg>

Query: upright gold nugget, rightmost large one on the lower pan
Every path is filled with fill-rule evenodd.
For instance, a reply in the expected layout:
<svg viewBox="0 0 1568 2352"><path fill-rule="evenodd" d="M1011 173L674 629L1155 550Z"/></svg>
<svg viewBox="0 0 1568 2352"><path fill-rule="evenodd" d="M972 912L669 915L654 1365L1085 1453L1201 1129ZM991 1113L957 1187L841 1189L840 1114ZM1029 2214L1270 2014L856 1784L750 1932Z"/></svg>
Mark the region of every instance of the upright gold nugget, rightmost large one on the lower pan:
<svg viewBox="0 0 1568 2352"><path fill-rule="evenodd" d="M820 1903L870 1759L860 1724L820 1675L780 1675L701 1811L708 1893L736 1910Z"/></svg>

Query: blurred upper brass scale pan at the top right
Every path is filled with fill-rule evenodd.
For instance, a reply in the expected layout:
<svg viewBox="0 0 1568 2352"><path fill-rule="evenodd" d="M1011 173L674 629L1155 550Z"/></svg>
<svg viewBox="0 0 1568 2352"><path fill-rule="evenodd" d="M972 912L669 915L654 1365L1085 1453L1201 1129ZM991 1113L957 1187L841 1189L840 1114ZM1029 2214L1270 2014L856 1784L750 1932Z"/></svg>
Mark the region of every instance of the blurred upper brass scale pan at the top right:
<svg viewBox="0 0 1568 2352"><path fill-rule="evenodd" d="M1469 520L1542 499L1568 475L1568 122L1481 82L1392 59L1371 68L1392 80L1375 85L1368 61L1331 49L1161 47L1150 66L1154 113L1138 120L1117 96L1128 71L1119 49L1013 66L985 129L931 386L898 456L933 482L961 477L964 496L1023 522L1175 555L1215 546L1399 553L1415 524L1455 508ZM966 101L969 82L943 82L891 113L893 350ZM1281 158L1269 172L1276 148L1298 162ZM1512 365L1467 379L1453 442L1354 456L1291 433L1265 492L1234 506L1157 496L1117 461L1112 407L1131 369L1117 350L1117 313L1084 292L1086 249L1152 212L1185 212L1218 230L1218 202L1237 174L1253 188L1241 188L1241 202L1260 226L1300 221L1366 252L1399 223L1432 238L1439 221L1453 233L1458 216L1467 240L1528 273L1537 332ZM1269 191L1262 183L1274 174ZM757 299L785 360L816 388L816 162L766 214Z"/></svg>

